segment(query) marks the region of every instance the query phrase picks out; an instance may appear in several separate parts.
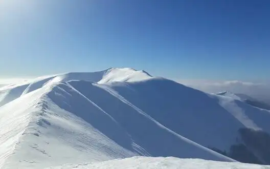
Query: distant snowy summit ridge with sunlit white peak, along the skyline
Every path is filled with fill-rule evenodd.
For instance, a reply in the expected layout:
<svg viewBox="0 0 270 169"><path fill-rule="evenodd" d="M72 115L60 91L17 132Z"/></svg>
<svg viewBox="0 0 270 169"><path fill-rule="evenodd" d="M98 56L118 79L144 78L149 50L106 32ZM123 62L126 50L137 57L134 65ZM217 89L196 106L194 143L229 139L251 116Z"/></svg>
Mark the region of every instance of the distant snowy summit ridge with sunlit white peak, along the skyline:
<svg viewBox="0 0 270 169"><path fill-rule="evenodd" d="M131 68L110 68L99 72L63 73L51 76L42 76L34 80L12 84L0 88L0 106L41 88L47 83L64 82L69 80L86 80L93 82L136 81L151 77L145 71L137 71Z"/></svg>

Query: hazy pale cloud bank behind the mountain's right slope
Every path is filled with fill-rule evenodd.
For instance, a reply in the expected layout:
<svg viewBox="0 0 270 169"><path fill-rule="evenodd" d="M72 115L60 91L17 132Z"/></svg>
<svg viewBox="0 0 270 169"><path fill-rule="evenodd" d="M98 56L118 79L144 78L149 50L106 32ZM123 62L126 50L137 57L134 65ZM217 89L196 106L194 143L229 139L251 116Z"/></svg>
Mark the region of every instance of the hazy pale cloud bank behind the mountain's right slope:
<svg viewBox="0 0 270 169"><path fill-rule="evenodd" d="M230 91L233 93L243 93L258 100L270 104L270 83L247 82L239 80L176 80L183 85L192 87L208 93Z"/></svg>

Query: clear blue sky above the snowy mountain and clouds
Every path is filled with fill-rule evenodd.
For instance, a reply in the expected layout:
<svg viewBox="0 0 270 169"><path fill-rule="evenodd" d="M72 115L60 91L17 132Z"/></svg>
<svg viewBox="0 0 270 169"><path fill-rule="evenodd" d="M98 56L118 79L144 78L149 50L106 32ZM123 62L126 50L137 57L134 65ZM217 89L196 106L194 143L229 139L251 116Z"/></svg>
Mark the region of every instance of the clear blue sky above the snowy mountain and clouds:
<svg viewBox="0 0 270 169"><path fill-rule="evenodd" d="M0 77L132 67L265 80L269 65L268 0L0 2Z"/></svg>

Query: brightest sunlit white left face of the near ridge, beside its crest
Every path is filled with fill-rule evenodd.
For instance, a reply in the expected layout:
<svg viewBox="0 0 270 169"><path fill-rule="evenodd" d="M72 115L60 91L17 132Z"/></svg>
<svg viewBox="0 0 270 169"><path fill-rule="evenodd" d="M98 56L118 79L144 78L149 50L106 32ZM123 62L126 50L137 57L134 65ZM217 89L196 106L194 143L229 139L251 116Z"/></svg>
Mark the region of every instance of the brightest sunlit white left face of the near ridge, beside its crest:
<svg viewBox="0 0 270 169"><path fill-rule="evenodd" d="M39 97L41 90L29 94L29 97ZM28 99L29 97L20 97L12 101L12 104L6 104L0 108L1 112L1 130L0 130L0 167L4 165L5 160L14 153L21 137L25 134L35 134L31 131L30 122L34 120L35 112L39 109L35 106L38 99ZM24 104L22 104L22 101ZM11 113L12 112L12 113Z"/></svg>

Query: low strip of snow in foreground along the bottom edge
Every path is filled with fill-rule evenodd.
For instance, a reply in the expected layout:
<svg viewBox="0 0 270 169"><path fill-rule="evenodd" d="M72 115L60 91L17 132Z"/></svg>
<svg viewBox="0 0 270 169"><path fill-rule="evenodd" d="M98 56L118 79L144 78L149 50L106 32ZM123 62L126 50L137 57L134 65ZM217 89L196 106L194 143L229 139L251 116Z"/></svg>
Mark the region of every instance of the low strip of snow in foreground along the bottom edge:
<svg viewBox="0 0 270 169"><path fill-rule="evenodd" d="M218 162L202 159L180 159L175 157L131 157L109 160L97 163L83 163L77 165L62 165L50 169L83 169L83 168L110 168L110 169L269 169L269 166L245 164L240 162ZM49 169L49 168L47 168Z"/></svg>

